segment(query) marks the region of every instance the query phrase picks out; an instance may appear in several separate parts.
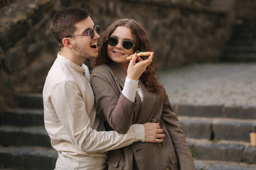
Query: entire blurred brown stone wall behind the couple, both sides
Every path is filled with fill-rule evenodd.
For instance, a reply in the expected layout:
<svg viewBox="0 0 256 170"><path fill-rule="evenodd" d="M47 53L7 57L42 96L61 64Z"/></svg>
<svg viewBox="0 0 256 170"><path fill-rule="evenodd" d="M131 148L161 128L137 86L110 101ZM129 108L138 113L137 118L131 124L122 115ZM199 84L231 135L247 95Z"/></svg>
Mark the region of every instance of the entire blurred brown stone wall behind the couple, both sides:
<svg viewBox="0 0 256 170"><path fill-rule="evenodd" d="M118 18L143 23L159 67L218 60L230 36L232 13L186 2L16 0L4 6L0 9L0 111L13 104L14 94L42 91L60 50L48 23L65 6L87 8L102 30Z"/></svg>

